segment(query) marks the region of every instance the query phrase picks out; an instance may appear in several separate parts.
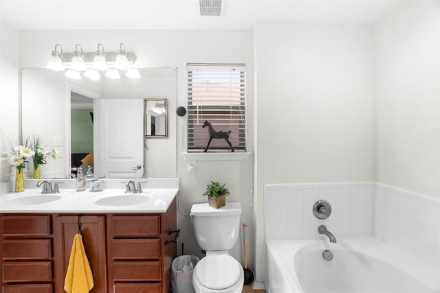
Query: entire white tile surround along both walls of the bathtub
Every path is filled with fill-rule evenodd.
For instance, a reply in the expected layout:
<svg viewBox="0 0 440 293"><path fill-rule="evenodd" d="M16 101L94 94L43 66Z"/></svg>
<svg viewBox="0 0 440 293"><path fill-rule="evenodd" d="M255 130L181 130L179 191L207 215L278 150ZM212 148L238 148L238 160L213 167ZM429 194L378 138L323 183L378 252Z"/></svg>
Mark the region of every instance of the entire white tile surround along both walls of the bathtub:
<svg viewBox="0 0 440 293"><path fill-rule="evenodd" d="M332 213L314 218L316 200ZM440 272L440 199L382 183L265 185L265 239L316 239L325 224L338 237L374 235Z"/></svg>

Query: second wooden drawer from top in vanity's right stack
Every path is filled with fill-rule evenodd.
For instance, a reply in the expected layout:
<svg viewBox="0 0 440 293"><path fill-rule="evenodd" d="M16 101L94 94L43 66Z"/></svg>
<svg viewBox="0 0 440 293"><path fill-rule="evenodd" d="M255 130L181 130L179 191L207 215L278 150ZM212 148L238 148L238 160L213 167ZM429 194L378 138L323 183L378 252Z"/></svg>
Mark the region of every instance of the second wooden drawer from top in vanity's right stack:
<svg viewBox="0 0 440 293"><path fill-rule="evenodd" d="M160 239L114 239L113 259L159 259Z"/></svg>

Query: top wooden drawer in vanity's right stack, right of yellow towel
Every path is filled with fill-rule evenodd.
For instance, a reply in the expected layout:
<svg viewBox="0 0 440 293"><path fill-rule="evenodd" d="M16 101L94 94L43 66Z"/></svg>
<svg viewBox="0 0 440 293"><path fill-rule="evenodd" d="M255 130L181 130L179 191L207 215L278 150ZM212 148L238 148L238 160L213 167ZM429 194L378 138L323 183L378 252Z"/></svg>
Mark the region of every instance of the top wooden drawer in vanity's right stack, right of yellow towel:
<svg viewBox="0 0 440 293"><path fill-rule="evenodd" d="M151 237L160 234L159 215L113 215L113 237Z"/></svg>

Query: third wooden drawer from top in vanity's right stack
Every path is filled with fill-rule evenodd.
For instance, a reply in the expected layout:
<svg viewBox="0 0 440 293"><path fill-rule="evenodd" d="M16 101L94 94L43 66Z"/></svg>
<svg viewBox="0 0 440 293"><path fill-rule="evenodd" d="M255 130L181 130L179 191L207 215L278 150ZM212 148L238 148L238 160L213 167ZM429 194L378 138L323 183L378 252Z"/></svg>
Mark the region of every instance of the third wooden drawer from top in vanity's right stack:
<svg viewBox="0 0 440 293"><path fill-rule="evenodd" d="M160 261L113 261L115 281L160 281Z"/></svg>

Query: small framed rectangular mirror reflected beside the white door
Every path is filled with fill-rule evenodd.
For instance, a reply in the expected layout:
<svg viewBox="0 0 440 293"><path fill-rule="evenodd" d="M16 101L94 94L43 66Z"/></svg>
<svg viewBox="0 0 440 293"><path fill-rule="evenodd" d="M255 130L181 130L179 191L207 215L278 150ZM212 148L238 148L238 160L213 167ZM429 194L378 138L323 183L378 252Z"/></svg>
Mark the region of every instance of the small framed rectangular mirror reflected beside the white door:
<svg viewBox="0 0 440 293"><path fill-rule="evenodd" d="M168 137L168 108L164 99L144 99L144 137Z"/></svg>

